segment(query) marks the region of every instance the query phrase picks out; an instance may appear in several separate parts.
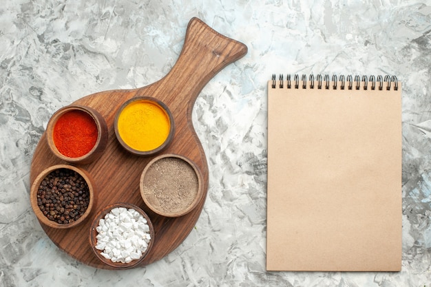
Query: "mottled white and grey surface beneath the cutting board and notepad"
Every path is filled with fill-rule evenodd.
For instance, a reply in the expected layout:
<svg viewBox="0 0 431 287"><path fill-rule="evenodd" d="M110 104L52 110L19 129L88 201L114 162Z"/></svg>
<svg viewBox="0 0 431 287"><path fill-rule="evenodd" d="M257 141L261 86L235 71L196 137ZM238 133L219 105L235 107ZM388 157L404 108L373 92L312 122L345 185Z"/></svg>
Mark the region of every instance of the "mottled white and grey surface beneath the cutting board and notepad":
<svg viewBox="0 0 431 287"><path fill-rule="evenodd" d="M174 65L191 17L249 53L204 87L193 122L209 193L173 253L97 270L56 248L29 201L32 153L56 109L143 87ZM431 286L431 2L4 0L0 5L0 286ZM399 273L269 273L266 81L273 73L390 74L403 83Z"/></svg>

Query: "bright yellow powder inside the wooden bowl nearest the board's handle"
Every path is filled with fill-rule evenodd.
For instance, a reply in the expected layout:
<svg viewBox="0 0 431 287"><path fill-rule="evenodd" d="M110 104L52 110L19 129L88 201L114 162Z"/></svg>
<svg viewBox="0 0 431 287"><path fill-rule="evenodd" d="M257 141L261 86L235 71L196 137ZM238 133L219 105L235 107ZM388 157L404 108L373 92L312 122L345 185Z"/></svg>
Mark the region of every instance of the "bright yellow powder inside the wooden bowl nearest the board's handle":
<svg viewBox="0 0 431 287"><path fill-rule="evenodd" d="M129 103L118 116L118 134L132 149L157 149L169 136L169 117L159 105L149 100Z"/></svg>

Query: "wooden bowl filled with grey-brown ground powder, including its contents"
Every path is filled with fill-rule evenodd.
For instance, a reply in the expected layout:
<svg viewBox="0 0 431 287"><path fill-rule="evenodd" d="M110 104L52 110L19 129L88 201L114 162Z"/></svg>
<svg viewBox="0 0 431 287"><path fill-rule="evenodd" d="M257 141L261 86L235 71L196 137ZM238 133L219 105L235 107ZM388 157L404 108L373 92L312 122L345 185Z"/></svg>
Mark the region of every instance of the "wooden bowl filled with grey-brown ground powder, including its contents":
<svg viewBox="0 0 431 287"><path fill-rule="evenodd" d="M204 193L202 173L196 164L189 158L169 153L147 164L139 187L149 209L166 217L189 213Z"/></svg>

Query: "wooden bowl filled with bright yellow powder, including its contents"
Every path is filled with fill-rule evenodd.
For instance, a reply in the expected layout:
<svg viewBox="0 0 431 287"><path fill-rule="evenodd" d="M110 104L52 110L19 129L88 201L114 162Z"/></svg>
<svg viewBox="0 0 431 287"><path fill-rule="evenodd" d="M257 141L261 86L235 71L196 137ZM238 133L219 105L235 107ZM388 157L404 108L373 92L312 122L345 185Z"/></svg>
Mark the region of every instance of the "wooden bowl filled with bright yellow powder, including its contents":
<svg viewBox="0 0 431 287"><path fill-rule="evenodd" d="M174 138L174 117L167 105L150 96L127 100L118 109L114 130L120 145L137 156L152 156Z"/></svg>

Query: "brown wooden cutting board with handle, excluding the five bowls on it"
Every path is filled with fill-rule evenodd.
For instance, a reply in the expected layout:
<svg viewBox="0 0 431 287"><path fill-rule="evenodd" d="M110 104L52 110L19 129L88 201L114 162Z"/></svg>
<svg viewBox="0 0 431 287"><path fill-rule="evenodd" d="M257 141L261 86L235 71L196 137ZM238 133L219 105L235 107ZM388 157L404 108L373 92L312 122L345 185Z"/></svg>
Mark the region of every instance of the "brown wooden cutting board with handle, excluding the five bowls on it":
<svg viewBox="0 0 431 287"><path fill-rule="evenodd" d="M70 229L50 228L41 224L52 242L79 261L96 268L109 269L98 261L89 243L90 224L103 207L116 202L129 202L142 208L151 218L155 229L154 246L139 266L151 264L174 251L189 235L202 211L208 190L208 167L202 145L193 129L191 112L195 100L209 80L224 67L247 52L243 43L211 29L200 19L193 18L187 26L185 43L178 61L160 81L138 89L98 92L76 100L74 104L96 109L108 125L109 140L105 153L98 160L78 165L94 180L96 202L88 219ZM134 156L125 151L114 133L114 116L126 100L135 96L152 96L161 100L174 116L176 132L171 145L162 153L176 153L196 163L202 172L204 196L196 209L182 217L163 217L145 206L139 191L139 179L145 165L154 157ZM43 169L65 163L54 157L43 134L34 151L30 169L30 184Z"/></svg>

